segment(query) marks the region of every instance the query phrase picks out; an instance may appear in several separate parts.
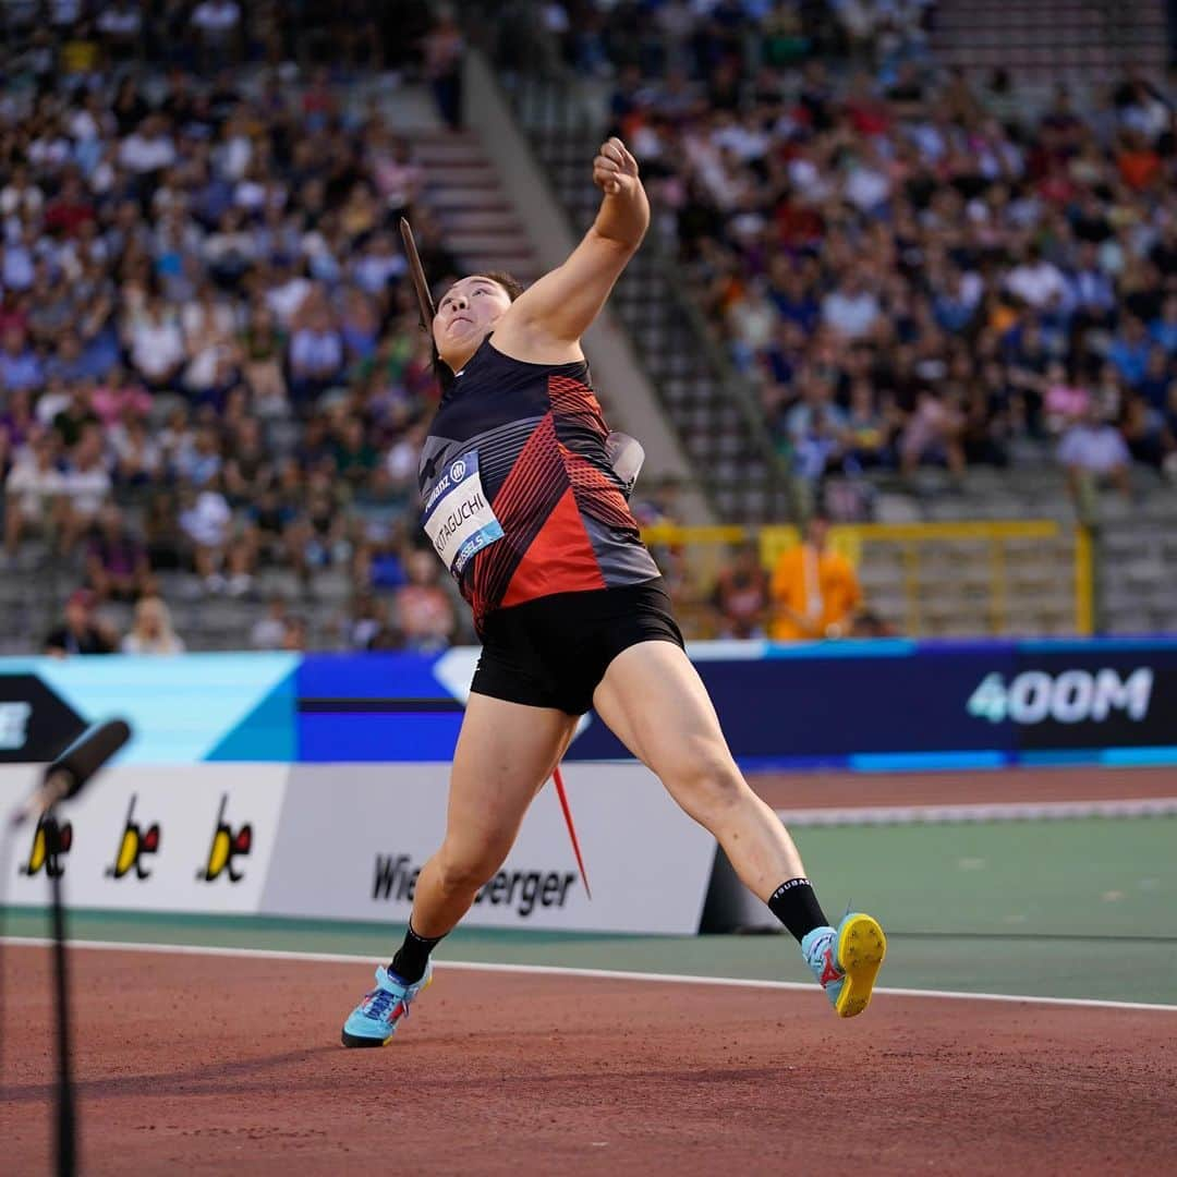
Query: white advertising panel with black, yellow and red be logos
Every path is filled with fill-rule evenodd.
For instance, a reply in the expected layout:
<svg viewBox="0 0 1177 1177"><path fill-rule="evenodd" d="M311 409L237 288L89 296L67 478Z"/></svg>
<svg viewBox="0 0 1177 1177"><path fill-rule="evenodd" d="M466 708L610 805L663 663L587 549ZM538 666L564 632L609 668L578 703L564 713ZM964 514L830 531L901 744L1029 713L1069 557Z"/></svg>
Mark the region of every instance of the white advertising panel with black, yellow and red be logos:
<svg viewBox="0 0 1177 1177"><path fill-rule="evenodd" d="M257 912L288 773L284 764L109 769L61 806L66 849L56 864L34 823L16 832L2 898L44 905L47 872L58 869L74 907ZM40 777L26 765L0 767L4 812Z"/></svg>

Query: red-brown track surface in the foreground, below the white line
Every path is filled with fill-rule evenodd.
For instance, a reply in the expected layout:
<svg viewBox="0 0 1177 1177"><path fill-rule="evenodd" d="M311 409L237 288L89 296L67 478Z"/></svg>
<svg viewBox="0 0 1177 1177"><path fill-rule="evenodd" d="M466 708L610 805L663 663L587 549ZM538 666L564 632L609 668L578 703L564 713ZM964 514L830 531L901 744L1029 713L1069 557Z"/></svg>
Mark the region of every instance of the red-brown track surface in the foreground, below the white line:
<svg viewBox="0 0 1177 1177"><path fill-rule="evenodd" d="M0 1169L49 1168L48 953L8 949ZM1177 1171L1177 1015L75 952L82 1172Z"/></svg>

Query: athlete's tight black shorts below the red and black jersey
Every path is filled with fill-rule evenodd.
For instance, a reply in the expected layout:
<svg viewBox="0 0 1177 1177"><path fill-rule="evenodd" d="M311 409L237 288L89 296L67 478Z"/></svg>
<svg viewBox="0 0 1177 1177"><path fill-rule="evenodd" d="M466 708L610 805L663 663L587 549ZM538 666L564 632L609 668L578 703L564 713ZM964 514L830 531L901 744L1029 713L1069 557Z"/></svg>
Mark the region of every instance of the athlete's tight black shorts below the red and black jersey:
<svg viewBox="0 0 1177 1177"><path fill-rule="evenodd" d="M661 577L497 609L481 637L471 691L570 716L592 707L593 691L623 650L639 641L683 646Z"/></svg>

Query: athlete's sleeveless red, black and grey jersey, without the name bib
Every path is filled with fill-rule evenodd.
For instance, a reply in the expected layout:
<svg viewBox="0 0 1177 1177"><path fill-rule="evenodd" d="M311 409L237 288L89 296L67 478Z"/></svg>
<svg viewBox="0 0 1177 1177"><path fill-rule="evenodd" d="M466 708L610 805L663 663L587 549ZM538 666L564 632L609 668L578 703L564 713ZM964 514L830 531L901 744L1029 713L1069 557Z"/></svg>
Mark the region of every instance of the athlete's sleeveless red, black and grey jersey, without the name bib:
<svg viewBox="0 0 1177 1177"><path fill-rule="evenodd" d="M425 501L450 464L477 451L503 528L459 574L477 626L496 609L658 576L607 437L584 360L528 364L487 337L457 373L421 450L419 484Z"/></svg>

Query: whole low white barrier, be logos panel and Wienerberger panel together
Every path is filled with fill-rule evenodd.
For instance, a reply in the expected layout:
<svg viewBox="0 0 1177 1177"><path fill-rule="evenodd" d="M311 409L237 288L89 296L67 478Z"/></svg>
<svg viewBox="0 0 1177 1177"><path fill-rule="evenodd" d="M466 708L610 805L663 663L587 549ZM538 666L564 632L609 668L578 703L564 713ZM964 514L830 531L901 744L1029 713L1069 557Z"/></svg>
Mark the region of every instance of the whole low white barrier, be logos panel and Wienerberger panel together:
<svg viewBox="0 0 1177 1177"><path fill-rule="evenodd" d="M464 923L693 935L716 843L634 764L570 764L585 893L548 784ZM40 779L0 767L0 811ZM404 923L417 872L445 831L448 765L120 765L61 807L54 863L33 823L0 899L42 906L60 870L74 907L264 913Z"/></svg>

